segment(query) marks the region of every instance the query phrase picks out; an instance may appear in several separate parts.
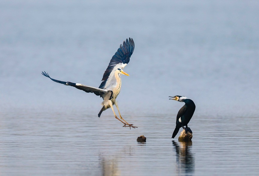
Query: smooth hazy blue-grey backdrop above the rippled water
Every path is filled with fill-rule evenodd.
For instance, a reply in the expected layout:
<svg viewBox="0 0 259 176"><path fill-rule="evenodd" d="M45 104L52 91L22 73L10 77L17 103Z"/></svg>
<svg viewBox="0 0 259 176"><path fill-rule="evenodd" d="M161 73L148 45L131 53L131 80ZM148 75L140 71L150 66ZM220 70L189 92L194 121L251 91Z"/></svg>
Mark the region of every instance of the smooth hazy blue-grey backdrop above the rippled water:
<svg viewBox="0 0 259 176"><path fill-rule="evenodd" d="M123 114L175 115L183 104L168 96L184 95L197 115L258 115L257 1L1 1L0 9L1 112L97 115L100 97L41 72L98 87L132 37Z"/></svg>

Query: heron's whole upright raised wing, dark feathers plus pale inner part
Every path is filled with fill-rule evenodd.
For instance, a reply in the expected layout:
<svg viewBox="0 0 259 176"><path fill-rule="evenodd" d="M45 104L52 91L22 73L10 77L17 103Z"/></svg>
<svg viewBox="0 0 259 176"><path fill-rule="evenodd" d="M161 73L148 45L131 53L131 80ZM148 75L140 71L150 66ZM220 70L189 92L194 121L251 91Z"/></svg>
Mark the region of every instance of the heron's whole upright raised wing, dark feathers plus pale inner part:
<svg viewBox="0 0 259 176"><path fill-rule="evenodd" d="M114 72L118 68L123 69L129 63L129 58L134 51L134 47L135 44L132 38L129 38L129 40L126 39L126 42L123 41L123 45L121 44L120 48L112 56L112 59L103 74L103 82L101 83L99 88L109 89L113 84L116 83Z"/></svg>

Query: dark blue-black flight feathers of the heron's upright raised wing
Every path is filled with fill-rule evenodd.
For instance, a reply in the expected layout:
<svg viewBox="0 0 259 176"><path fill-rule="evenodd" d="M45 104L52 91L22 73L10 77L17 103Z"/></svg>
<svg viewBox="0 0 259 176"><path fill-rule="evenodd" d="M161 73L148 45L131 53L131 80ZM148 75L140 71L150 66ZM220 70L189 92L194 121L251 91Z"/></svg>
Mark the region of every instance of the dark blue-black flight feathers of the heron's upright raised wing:
<svg viewBox="0 0 259 176"><path fill-rule="evenodd" d="M102 79L103 82L101 83L99 88L105 87L106 81L109 78L113 68L116 65L129 63L129 58L134 51L134 47L135 47L135 44L132 38L129 38L129 40L126 39L126 42L123 41L123 44L120 45L117 52L115 52L115 54L112 56L112 59L103 74L103 79Z"/></svg>

